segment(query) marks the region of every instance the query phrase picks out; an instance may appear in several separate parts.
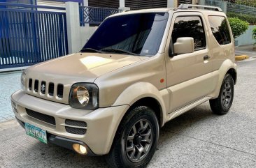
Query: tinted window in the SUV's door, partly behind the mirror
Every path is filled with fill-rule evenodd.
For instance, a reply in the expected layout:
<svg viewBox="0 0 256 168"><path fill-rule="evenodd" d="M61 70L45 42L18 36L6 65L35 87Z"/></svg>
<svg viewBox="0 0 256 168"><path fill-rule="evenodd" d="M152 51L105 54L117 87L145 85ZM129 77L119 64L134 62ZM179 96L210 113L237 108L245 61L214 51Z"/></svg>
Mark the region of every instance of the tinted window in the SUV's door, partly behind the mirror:
<svg viewBox="0 0 256 168"><path fill-rule="evenodd" d="M206 47L206 35L204 26L199 16L176 17L171 35L172 43L176 43L177 38L194 38L194 49L204 49Z"/></svg>

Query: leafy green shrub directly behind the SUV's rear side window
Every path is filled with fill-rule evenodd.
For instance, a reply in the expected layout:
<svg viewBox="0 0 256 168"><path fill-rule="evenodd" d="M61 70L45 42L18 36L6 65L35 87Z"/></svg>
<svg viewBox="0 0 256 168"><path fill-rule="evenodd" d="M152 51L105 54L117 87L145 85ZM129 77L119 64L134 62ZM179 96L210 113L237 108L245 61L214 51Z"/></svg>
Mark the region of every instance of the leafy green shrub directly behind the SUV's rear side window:
<svg viewBox="0 0 256 168"><path fill-rule="evenodd" d="M237 17L229 17L228 19L234 38L239 37L248 29L248 22L240 20Z"/></svg>

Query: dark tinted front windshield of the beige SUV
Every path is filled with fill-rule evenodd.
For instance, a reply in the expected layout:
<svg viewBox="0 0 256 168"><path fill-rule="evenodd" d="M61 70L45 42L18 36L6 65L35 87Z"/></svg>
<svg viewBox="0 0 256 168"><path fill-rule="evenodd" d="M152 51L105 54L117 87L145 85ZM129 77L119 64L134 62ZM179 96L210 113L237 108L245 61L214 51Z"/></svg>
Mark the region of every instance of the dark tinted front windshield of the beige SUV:
<svg viewBox="0 0 256 168"><path fill-rule="evenodd" d="M139 13L109 17L87 41L81 52L155 55L169 13Z"/></svg>

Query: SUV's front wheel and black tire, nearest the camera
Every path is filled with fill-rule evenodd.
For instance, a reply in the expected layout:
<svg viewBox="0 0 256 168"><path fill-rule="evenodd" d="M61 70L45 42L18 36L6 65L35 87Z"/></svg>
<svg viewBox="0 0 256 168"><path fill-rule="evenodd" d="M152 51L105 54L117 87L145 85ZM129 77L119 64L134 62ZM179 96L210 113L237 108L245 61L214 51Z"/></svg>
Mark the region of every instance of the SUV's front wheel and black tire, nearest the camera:
<svg viewBox="0 0 256 168"><path fill-rule="evenodd" d="M122 119L106 161L110 167L146 167L155 153L158 138L155 113L149 107L135 107Z"/></svg>

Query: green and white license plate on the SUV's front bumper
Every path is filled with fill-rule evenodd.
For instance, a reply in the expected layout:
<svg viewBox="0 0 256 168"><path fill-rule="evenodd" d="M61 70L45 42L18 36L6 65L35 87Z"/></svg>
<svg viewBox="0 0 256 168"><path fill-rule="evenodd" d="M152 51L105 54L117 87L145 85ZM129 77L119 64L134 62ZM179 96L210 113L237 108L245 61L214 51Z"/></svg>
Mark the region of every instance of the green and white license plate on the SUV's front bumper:
<svg viewBox="0 0 256 168"><path fill-rule="evenodd" d="M47 136L46 131L42 130L41 128L37 128L34 125L31 125L29 123L25 123L25 130L26 134L38 139L39 141L47 144Z"/></svg>

